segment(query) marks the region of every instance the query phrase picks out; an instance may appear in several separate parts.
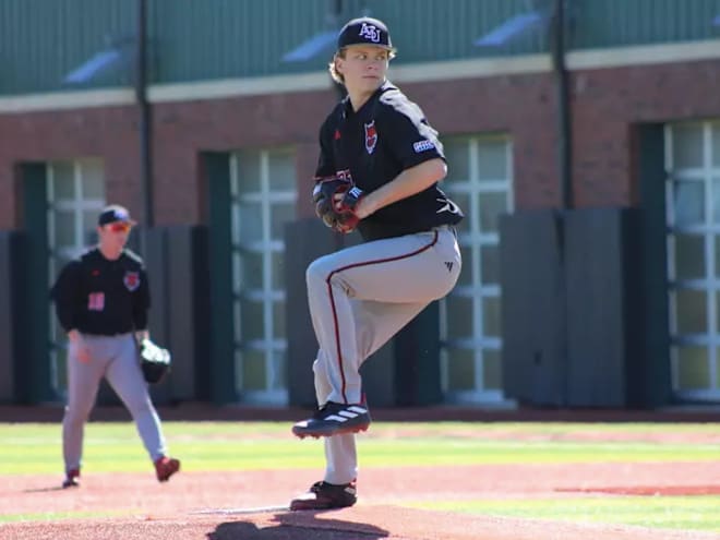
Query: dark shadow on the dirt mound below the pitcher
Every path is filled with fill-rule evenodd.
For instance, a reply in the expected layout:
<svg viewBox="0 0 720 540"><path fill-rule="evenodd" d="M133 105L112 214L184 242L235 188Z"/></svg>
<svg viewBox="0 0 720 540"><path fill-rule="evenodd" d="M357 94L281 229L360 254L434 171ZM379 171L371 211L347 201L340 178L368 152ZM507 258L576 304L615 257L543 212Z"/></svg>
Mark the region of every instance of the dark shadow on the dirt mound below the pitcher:
<svg viewBox="0 0 720 540"><path fill-rule="evenodd" d="M278 525L259 527L252 521L226 521L219 524L207 540L375 540L387 538L389 532L373 525L317 519L320 512L277 514Z"/></svg>

